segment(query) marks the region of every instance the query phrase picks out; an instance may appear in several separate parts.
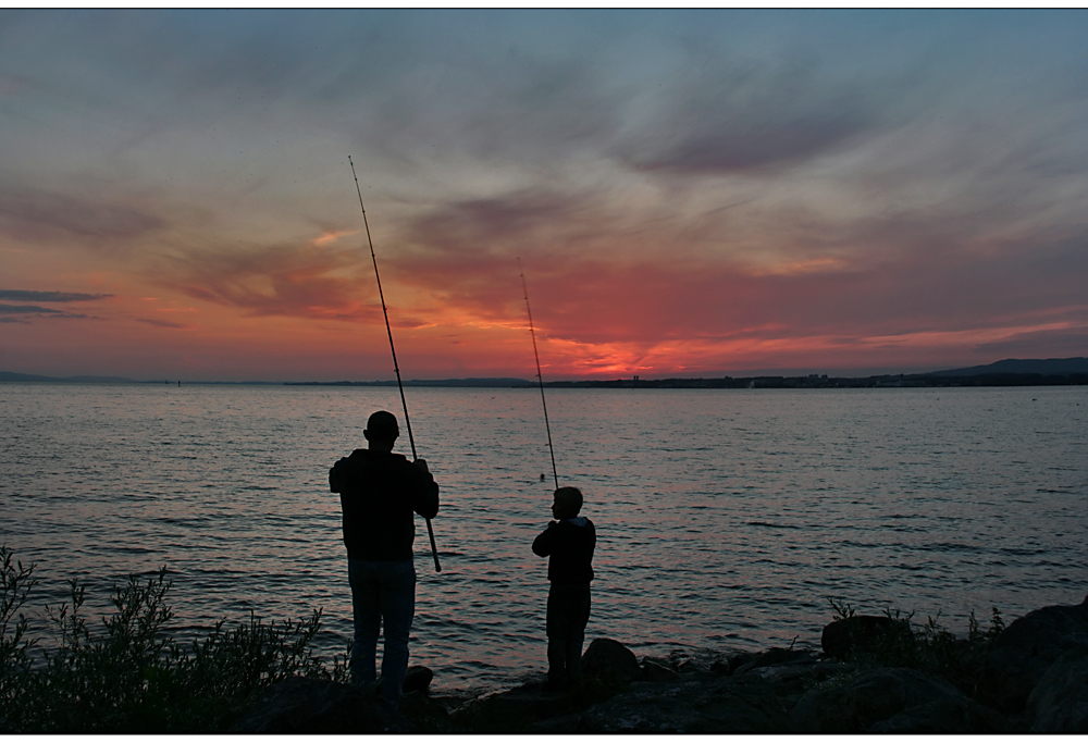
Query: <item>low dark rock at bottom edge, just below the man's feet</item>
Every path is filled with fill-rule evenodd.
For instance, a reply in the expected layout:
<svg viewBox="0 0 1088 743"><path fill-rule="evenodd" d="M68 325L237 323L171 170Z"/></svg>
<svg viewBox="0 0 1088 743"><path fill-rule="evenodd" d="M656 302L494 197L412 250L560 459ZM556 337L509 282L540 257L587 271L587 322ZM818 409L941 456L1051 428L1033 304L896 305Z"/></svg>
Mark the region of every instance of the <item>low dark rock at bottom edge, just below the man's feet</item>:
<svg viewBox="0 0 1088 743"><path fill-rule="evenodd" d="M412 732L386 703L362 686L292 677L268 689L235 722L238 733Z"/></svg>

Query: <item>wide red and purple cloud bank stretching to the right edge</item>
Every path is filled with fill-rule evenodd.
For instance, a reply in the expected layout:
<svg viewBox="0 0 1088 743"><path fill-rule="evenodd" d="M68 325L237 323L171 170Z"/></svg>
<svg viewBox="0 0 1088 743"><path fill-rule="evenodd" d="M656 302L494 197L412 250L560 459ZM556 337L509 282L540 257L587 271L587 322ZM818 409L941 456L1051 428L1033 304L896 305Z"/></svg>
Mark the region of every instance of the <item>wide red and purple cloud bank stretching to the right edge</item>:
<svg viewBox="0 0 1088 743"><path fill-rule="evenodd" d="M932 333L962 332L954 337L977 345L984 330L1040 325L1054 308L1076 306L1088 275L1083 228L1017 234L996 208L841 224L780 210L764 239L786 239L784 257L752 264L697 243L676 245L669 223L644 224L638 236L658 250L629 250L629 236L597 207L541 190L450 202L406 227L412 248L392 260L394 275L448 318L521 326L514 260L521 255L541 336L580 344L582 354L621 348L625 359L667 344L700 352L792 344L800 352L806 338L821 338L845 351L871 345L867 338L912 345Z"/></svg>

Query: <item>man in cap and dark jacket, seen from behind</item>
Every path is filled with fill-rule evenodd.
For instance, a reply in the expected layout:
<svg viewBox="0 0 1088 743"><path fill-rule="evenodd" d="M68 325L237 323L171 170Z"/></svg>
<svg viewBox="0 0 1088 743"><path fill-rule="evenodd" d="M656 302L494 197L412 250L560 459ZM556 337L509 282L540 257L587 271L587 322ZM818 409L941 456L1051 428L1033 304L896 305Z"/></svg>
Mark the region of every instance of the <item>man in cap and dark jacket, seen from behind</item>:
<svg viewBox="0 0 1088 743"><path fill-rule="evenodd" d="M408 671L408 635L416 612L412 513L435 517L438 485L425 460L409 462L404 455L393 454L393 444L400 435L393 413L373 413L362 435L368 448L356 449L329 471L329 487L341 494L344 512L355 615L351 680L374 683L378 636L383 631L379 692L396 705Z"/></svg>

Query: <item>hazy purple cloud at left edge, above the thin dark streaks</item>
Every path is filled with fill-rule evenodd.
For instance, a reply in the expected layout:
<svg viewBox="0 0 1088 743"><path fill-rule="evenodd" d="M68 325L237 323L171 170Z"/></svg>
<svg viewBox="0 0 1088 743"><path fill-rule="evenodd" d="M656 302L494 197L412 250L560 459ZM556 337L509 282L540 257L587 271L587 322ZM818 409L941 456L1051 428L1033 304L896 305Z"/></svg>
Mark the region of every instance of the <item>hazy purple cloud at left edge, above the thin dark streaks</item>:
<svg viewBox="0 0 1088 743"><path fill-rule="evenodd" d="M0 189L0 234L27 243L115 244L165 226L159 216L129 205L37 189Z"/></svg>

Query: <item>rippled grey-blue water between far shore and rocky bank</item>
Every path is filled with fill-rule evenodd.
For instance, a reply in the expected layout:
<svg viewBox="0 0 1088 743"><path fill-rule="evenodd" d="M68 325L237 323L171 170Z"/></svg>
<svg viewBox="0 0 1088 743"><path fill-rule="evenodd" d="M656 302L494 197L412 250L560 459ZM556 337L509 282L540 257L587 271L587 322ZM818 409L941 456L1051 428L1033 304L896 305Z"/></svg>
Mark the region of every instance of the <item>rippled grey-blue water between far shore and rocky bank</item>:
<svg viewBox="0 0 1088 743"><path fill-rule="evenodd" d="M441 573L418 519L412 662L444 691L510 685L546 667L540 393L407 394L442 487ZM1086 387L547 404L560 484L597 525L588 639L639 655L818 644L828 596L962 631L972 609L1007 620L1088 592ZM320 607L331 657L351 611L327 471L381 408L401 416L396 388L0 385L0 542L37 564L37 607L79 578L103 609L114 583L165 565L180 636Z"/></svg>

